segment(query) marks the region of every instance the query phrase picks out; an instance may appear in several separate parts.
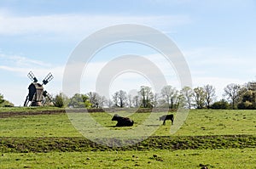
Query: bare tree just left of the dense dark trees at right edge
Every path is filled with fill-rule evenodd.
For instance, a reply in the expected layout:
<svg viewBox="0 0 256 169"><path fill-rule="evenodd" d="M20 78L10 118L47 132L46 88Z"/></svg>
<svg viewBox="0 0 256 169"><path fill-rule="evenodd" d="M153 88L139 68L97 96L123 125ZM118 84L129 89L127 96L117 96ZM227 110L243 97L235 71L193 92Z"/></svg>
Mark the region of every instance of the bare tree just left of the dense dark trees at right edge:
<svg viewBox="0 0 256 169"><path fill-rule="evenodd" d="M238 103L241 95L241 86L238 84L230 83L226 87L224 87L224 96L226 96L232 104L232 109L236 108L236 104Z"/></svg>

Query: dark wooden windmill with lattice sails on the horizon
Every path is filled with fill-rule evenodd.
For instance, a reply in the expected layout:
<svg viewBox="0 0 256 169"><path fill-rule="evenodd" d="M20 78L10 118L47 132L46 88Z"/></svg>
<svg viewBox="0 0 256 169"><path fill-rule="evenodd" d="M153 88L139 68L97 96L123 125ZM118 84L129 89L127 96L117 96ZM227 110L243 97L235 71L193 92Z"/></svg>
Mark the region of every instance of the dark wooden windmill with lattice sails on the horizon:
<svg viewBox="0 0 256 169"><path fill-rule="evenodd" d="M47 97L50 100L51 97L47 93L46 90L44 90L44 85L46 85L48 82L50 82L53 79L53 76L51 73L49 73L43 80L43 83L38 83L38 79L32 71L30 71L27 76L32 80L32 83L28 87L28 95L26 96L26 100L24 102L24 106L41 106L43 105L44 99Z"/></svg>

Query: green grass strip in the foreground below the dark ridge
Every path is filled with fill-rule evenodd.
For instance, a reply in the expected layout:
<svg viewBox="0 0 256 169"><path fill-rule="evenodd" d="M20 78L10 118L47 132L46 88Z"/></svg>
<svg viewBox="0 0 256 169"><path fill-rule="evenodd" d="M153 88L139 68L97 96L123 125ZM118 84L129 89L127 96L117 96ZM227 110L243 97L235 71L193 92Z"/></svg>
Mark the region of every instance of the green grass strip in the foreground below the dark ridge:
<svg viewBox="0 0 256 169"><path fill-rule="evenodd" d="M6 153L0 168L256 168L255 149Z"/></svg>

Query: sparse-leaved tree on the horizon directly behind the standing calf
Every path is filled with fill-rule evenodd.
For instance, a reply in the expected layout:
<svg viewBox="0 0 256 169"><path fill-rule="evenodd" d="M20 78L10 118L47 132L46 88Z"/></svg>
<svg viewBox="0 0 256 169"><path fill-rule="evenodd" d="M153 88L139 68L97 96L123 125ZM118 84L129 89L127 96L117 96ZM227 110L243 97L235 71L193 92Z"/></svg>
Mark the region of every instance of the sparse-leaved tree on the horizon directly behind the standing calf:
<svg viewBox="0 0 256 169"><path fill-rule="evenodd" d="M169 109L173 109L173 104L176 102L178 91L175 87L167 85L161 89L162 97L166 100Z"/></svg>

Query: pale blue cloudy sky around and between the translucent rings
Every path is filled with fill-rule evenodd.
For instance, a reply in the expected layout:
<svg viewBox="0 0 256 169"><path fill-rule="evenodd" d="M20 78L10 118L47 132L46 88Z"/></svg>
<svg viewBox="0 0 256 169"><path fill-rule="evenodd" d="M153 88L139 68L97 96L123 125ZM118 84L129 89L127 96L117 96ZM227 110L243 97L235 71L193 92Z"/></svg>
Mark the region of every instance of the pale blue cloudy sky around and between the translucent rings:
<svg viewBox="0 0 256 169"><path fill-rule="evenodd" d="M230 83L256 78L256 1L253 0L1 0L0 93L23 105L31 83L51 72L44 88L62 91L63 73L73 50L92 33L119 24L147 25L171 38L189 65L193 87L210 84L218 99ZM84 69L81 93L96 90L96 77L105 65L125 54L151 60L179 87L177 73L158 51L136 42L119 42L98 51ZM142 64L143 66L143 64ZM127 93L150 82L137 72L116 76L110 93Z"/></svg>

